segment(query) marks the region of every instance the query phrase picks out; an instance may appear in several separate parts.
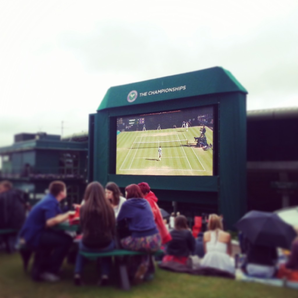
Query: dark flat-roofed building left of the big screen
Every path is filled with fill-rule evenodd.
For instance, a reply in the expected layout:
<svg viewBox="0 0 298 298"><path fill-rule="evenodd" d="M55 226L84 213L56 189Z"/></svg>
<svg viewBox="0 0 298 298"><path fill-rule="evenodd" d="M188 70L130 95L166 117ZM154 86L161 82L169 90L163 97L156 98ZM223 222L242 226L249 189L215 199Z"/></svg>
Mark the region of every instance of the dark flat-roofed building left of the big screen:
<svg viewBox="0 0 298 298"><path fill-rule="evenodd" d="M29 194L30 202L42 198L49 183L67 185L67 204L80 202L87 182L88 136L78 134L61 140L59 135L21 133L11 146L0 148L0 180Z"/></svg>

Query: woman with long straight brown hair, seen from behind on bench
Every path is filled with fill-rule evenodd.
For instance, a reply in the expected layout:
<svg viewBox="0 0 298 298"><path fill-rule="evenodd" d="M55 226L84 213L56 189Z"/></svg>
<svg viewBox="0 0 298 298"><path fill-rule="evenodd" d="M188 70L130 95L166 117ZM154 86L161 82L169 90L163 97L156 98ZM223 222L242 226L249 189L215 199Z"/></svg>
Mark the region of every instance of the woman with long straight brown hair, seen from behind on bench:
<svg viewBox="0 0 298 298"><path fill-rule="evenodd" d="M80 209L80 226L83 238L79 249L85 252L105 252L114 249L115 215L111 204L105 197L105 192L99 182L88 184L85 195L85 204ZM97 260L100 265L99 259ZM81 275L85 258L77 254L74 282L81 284ZM102 258L101 285L108 283L111 266L110 258Z"/></svg>

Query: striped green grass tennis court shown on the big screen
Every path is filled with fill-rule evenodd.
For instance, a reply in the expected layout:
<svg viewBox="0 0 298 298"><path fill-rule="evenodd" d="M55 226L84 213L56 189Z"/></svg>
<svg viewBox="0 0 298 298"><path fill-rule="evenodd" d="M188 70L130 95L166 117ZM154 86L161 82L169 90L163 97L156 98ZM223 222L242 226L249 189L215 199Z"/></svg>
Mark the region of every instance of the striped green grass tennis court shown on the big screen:
<svg viewBox="0 0 298 298"><path fill-rule="evenodd" d="M116 174L211 176L213 150L196 146L201 126L150 131L129 131L117 135ZM208 144L213 131L206 127ZM162 148L159 161L158 148Z"/></svg>

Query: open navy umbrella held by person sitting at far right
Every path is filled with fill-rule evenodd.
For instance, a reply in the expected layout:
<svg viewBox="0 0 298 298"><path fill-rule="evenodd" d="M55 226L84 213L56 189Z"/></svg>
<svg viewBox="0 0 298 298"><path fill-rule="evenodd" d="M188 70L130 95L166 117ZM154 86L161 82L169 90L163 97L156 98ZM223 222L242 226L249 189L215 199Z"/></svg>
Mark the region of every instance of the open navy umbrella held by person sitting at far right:
<svg viewBox="0 0 298 298"><path fill-rule="evenodd" d="M255 245L290 249L297 236L292 226L271 212L250 211L235 226Z"/></svg>

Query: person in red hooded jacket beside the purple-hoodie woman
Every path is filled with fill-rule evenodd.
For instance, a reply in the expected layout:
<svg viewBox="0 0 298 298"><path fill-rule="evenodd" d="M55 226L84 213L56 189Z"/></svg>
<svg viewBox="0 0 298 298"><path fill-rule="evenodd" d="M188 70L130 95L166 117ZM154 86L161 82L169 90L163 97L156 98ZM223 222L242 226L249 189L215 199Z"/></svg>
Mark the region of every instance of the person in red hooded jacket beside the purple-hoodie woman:
<svg viewBox="0 0 298 298"><path fill-rule="evenodd" d="M162 214L161 214L159 207L157 205L158 198L150 190L150 186L148 183L141 182L138 185L144 195L144 198L149 202L149 204L151 206L153 216L154 216L154 221L156 223L157 229L159 230L159 234L162 237L162 244L165 244L165 243L169 242L170 240L172 240L172 237L171 237L169 231L167 230L167 227L164 224Z"/></svg>

